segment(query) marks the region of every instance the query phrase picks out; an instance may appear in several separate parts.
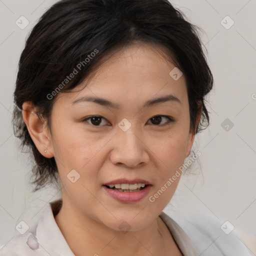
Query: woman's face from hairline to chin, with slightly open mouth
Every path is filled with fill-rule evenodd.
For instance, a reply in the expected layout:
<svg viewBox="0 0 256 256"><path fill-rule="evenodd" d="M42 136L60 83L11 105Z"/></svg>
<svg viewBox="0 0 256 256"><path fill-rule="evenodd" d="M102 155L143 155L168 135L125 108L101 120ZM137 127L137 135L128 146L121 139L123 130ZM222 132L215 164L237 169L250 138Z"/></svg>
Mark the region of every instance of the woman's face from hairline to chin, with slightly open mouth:
<svg viewBox="0 0 256 256"><path fill-rule="evenodd" d="M152 46L131 45L111 56L86 87L58 93L48 149L63 204L79 216L139 230L171 199L193 141L185 77L175 69L170 75L174 67ZM130 191L137 183L140 190Z"/></svg>

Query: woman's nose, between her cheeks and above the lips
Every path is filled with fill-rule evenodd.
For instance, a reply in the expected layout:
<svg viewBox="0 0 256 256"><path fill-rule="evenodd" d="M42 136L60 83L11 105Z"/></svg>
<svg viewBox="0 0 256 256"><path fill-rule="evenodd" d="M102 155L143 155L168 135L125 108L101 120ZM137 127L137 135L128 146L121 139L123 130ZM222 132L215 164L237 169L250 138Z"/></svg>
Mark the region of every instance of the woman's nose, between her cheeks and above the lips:
<svg viewBox="0 0 256 256"><path fill-rule="evenodd" d="M121 129L113 137L113 149L110 160L115 165L135 168L146 164L149 160L148 147L141 135L130 127L127 131Z"/></svg>

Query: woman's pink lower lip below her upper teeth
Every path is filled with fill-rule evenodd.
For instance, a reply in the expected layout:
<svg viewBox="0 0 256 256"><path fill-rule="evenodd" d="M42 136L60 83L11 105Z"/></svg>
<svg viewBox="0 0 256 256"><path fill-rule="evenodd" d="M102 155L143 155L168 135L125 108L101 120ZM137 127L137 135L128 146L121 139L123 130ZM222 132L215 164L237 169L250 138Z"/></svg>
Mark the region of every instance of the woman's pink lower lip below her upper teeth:
<svg viewBox="0 0 256 256"><path fill-rule="evenodd" d="M137 202L141 200L143 197L145 197L151 188L151 185L147 185L145 188L139 190L139 191L134 191L134 192L122 192L118 190L114 190L111 188L108 188L106 186L103 186L103 189L114 199L120 202Z"/></svg>

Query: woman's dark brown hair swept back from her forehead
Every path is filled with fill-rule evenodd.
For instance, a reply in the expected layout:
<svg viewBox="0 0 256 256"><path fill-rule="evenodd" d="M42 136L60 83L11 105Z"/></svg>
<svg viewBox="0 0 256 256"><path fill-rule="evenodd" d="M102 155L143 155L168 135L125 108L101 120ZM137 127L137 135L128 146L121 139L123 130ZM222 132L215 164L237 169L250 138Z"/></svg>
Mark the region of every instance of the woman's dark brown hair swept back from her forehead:
<svg viewBox="0 0 256 256"><path fill-rule="evenodd" d="M168 0L58 1L39 18L26 39L14 91L14 134L21 139L21 146L33 153L34 191L57 180L57 166L54 157L44 157L35 147L22 118L22 103L32 101L37 115L50 127L55 98L52 92L57 87L61 92L73 89L98 68L96 64L103 56L132 42L153 43L166 49L186 78L190 127L195 133L207 127L204 101L212 88L212 74L197 27ZM97 53L92 57L95 49ZM79 72L63 83L78 63ZM202 115L195 127L200 106Z"/></svg>

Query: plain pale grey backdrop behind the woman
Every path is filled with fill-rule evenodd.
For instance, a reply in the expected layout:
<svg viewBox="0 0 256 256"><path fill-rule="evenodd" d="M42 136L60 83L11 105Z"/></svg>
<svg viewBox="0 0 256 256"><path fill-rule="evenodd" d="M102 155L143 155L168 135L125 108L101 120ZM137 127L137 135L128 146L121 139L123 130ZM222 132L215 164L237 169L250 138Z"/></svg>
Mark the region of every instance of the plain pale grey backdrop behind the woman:
<svg viewBox="0 0 256 256"><path fill-rule="evenodd" d="M0 0L0 244L13 237L20 220L32 225L48 201L61 196L50 187L31 193L29 159L20 153L11 126L12 93L25 38L54 2ZM193 145L201 152L200 165L193 164L182 176L164 211L188 218L192 212L203 213L220 224L228 220L256 255L256 0L171 3L203 29L199 34L214 88L206 105L210 124ZM20 16L29 21L24 29L15 23Z"/></svg>

